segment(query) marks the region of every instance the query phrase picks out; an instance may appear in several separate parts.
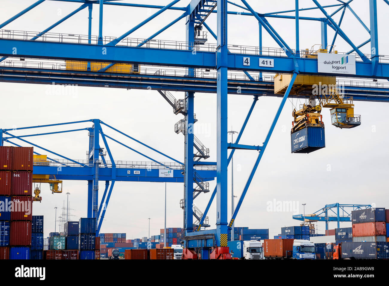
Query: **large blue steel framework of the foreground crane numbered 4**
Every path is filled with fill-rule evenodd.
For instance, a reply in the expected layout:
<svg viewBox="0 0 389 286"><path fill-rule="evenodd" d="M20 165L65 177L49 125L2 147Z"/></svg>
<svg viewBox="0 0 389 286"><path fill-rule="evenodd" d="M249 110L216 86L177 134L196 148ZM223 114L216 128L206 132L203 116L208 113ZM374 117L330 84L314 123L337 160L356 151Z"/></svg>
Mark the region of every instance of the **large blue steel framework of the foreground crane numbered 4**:
<svg viewBox="0 0 389 286"><path fill-rule="evenodd" d="M378 47L378 24L377 24L377 1L365 1L366 10L370 11L370 23L364 23L361 18L352 9L353 0L347 2L338 0L336 4L322 5L317 0L312 0L312 7L300 8L299 0L295 0L295 9L288 11L266 12L254 11L249 2L240 0L233 3L227 0L191 0L186 7L177 5L184 2L173 0L167 5L147 5L138 3L127 3L116 0L46 0L59 2L79 3L77 9L49 26L42 32L26 32L10 30L12 21L23 16L26 12L39 6L45 0L39 0L9 20L0 24L0 81L4 82L28 82L40 84L78 84L80 86L105 86L114 88L152 88L158 90L161 95L173 107L176 114L183 114L185 119L176 132L182 132L185 135L186 149L184 161L184 182L185 197L183 200L184 209L184 227L186 235L193 232L193 184L197 184L198 193L206 193L207 189L201 180L196 179L194 166L212 165L212 162L206 163L205 150L202 147L196 148L196 138L189 128L196 122L193 104L194 93L216 93L217 94L217 186L211 193L209 204L198 218L198 234L207 234L207 231L200 231L203 221L207 216L209 207L216 197L216 232L215 244L223 246L220 243L221 235L231 230L233 221L241 207L245 194L250 186L251 180L256 172L259 161L266 149L273 129L280 116L280 112L289 96L291 87L298 74L317 75L318 61L314 58L303 57L300 49L300 21L315 21L320 23L321 29L318 34L321 35L322 49L329 49L333 52L333 46L338 39L342 39L350 46L349 51L343 54L354 54L356 56L356 74L321 74L333 77L343 77L339 81L344 82L345 94L352 95L354 100L365 101L388 101L387 79L389 79L389 57L379 54ZM382 0L389 5L388 0ZM180 3L179 3L180 2ZM300 0L300 2L302 2ZM309 3L310 1L308 1ZM325 1L320 1L324 3ZM176 5L177 4L177 5ZM110 37L103 35L103 10L105 6L117 7L117 9L131 7L143 7L145 9L154 9L154 14L144 21L134 26L120 36ZM387 7L389 9L389 6ZM64 33L51 33L50 31L71 18L77 12L88 9L88 35L74 35ZM99 33L91 34L92 27L92 9L99 9ZM228 10L230 9L230 11ZM243 12L234 11L234 9L243 9ZM328 9L335 9L329 13ZM6 9L4 9L6 10ZM140 29L146 23L158 17L166 10L177 11L177 18L164 27L159 27L156 23L156 32L152 35L146 35L144 39L133 39L131 34ZM345 11L350 11L355 16L355 29L361 33L368 33L368 39L363 43L354 43L352 39L343 31L342 19ZM300 16L300 13L309 13L310 11L320 11L321 18ZM7 13L5 11L5 13ZM217 31L210 29L207 22L210 21L209 15L214 14L217 18ZM340 18L335 21L335 17ZM254 17L259 24L259 46L250 47L242 45L233 45L228 42L228 16L238 15L240 17ZM186 19L186 36L182 42L171 40L155 39L160 33L170 28L180 21ZM276 30L269 23L269 19L289 19L289 29L293 30L296 36L295 46L288 44L282 35L291 33L290 30ZM155 20L154 20L155 21ZM370 28L369 28L370 27ZM384 31L386 27L382 27ZM5 30L7 29L7 30ZM328 37L328 29L335 31L332 39ZM118 30L123 30L120 27ZM126 29L124 29L126 30ZM217 44L207 44L204 32L214 37ZM277 47L268 48L262 44L262 33L268 33L277 43ZM364 54L361 47L366 44L371 46L371 53ZM341 53L338 51L338 53ZM247 65L246 58L249 58L251 64ZM23 61L20 61L20 60ZM258 66L259 59L271 60L272 66ZM88 65L85 70L67 70L64 67L64 61L86 61ZM249 62L250 62L249 61ZM93 68L91 63L110 63L107 66ZM115 70L112 67L116 63L139 65L137 72L124 70ZM66 65L65 65L66 66ZM286 93L282 96L281 103L275 114L275 118L270 126L269 132L265 136L263 143L257 145L239 144L240 137L245 129L247 121L254 109L256 101L263 95L274 95L272 76L275 73L293 74ZM37 76L39 74L39 76ZM370 80L368 80L370 79ZM371 81L374 79L374 81ZM380 80L380 81L378 81ZM176 100L168 91L184 91L185 98ZM242 94L254 95L254 101L249 108L247 117L242 125L234 143L227 141L227 98L226 95ZM102 137L104 140L104 136ZM104 142L105 143L105 142ZM193 156L193 148L198 150L197 157ZM199 151L200 149L200 151ZM228 149L231 149L228 154ZM247 179L242 195L238 201L233 215L227 219L227 168L233 153L236 149L246 149L259 152L256 163ZM197 152L197 151L196 151ZM98 157L98 156L97 156ZM199 159L199 160L197 160ZM201 160L200 160L201 159ZM111 161L113 162L112 158ZM213 163L214 164L214 163ZM114 181L115 172L111 173L110 181ZM112 185L111 185L112 187ZM197 194L198 195L198 194ZM90 197L93 197L93 190L89 190ZM100 205L101 208L101 205ZM88 211L89 214L89 211Z"/></svg>

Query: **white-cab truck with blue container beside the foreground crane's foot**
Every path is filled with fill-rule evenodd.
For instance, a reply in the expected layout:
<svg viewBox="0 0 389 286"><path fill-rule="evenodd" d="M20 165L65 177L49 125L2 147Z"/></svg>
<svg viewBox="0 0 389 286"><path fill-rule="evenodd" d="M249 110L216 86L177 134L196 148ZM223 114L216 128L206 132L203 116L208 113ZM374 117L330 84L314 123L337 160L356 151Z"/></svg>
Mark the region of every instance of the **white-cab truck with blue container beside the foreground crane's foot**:
<svg viewBox="0 0 389 286"><path fill-rule="evenodd" d="M262 243L259 240L233 240L227 242L231 257L235 259L263 259Z"/></svg>

